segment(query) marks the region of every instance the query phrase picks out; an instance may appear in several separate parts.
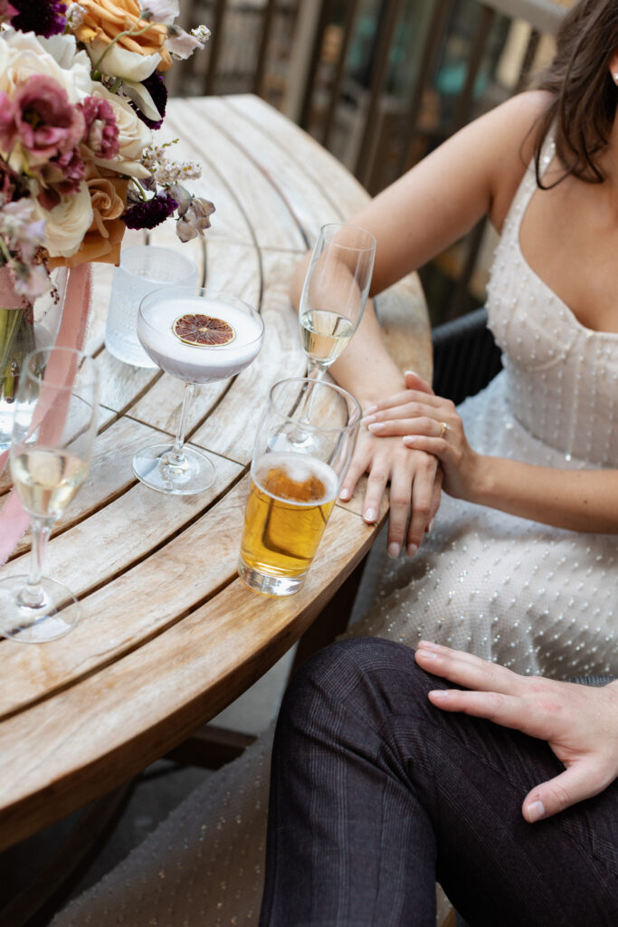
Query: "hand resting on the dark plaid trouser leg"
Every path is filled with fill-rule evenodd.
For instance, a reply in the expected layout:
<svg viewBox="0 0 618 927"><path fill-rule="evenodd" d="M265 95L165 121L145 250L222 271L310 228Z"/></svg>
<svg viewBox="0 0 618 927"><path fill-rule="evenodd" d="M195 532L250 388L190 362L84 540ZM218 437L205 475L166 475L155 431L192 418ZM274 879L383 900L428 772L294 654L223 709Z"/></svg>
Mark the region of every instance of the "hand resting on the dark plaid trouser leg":
<svg viewBox="0 0 618 927"><path fill-rule="evenodd" d="M415 656L428 673L472 690L429 692L433 705L547 741L566 767L523 799L530 823L599 794L618 776L618 680L597 688L519 676L429 641L419 643Z"/></svg>

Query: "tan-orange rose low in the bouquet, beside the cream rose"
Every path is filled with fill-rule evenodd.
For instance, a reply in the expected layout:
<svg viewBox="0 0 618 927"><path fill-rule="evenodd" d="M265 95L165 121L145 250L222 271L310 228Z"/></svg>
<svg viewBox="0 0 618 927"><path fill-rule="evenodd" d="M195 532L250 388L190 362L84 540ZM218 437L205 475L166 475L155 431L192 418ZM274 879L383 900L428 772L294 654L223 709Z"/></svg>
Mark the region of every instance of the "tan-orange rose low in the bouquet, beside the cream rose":
<svg viewBox="0 0 618 927"><path fill-rule="evenodd" d="M93 221L83 236L82 245L70 258L51 258L50 270L54 267L76 267L85 261L97 260L118 264L120 246L127 226L120 216L127 206L128 180L118 176L101 176L94 164L89 164L86 184L90 194Z"/></svg>

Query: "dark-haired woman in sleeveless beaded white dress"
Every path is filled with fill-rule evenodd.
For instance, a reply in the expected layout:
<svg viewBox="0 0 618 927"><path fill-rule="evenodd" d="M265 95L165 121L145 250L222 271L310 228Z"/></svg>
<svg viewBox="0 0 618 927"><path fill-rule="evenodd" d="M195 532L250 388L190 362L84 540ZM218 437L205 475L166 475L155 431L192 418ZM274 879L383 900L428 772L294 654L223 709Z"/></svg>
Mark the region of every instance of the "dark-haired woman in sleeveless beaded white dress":
<svg viewBox="0 0 618 927"><path fill-rule="evenodd" d="M618 4L582 0L540 90L474 121L350 220L377 238L378 293L488 215L501 238L487 310L505 365L456 412L401 375L370 310L331 368L365 410L342 497L368 471L372 521L390 481L387 553L405 542L414 558L383 557L357 633L428 637L563 679L616 669L617 83ZM450 498L415 557L436 458Z"/></svg>

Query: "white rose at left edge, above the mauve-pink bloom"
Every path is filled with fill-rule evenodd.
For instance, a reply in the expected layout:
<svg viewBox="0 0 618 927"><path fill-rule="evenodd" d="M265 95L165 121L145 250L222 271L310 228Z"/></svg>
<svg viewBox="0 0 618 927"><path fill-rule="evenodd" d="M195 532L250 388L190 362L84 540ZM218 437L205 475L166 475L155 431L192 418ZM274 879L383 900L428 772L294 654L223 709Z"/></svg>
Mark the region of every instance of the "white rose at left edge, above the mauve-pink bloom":
<svg viewBox="0 0 618 927"><path fill-rule="evenodd" d="M72 35L44 39L33 32L6 30L0 42L0 90L11 99L32 74L53 77L72 104L92 92L88 56L77 51Z"/></svg>

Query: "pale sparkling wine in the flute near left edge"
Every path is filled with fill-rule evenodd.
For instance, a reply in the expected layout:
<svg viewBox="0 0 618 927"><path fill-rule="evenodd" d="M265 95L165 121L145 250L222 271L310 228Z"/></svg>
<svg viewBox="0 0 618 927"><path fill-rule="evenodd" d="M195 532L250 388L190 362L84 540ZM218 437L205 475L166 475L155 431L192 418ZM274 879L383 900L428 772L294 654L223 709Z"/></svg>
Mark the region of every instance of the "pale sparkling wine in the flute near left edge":
<svg viewBox="0 0 618 927"><path fill-rule="evenodd" d="M11 476L28 514L56 520L82 486L88 465L69 451L18 448L11 457Z"/></svg>

